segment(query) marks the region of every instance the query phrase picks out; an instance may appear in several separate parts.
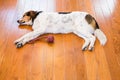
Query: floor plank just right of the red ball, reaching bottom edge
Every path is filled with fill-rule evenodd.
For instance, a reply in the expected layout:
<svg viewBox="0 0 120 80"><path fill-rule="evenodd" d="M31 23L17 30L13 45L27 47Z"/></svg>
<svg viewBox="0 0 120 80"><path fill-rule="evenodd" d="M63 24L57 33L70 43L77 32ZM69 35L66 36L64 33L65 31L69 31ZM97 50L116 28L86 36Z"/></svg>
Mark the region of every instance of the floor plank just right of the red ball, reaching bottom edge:
<svg viewBox="0 0 120 80"><path fill-rule="evenodd" d="M65 80L65 52L64 52L64 43L63 35L55 36L54 44L54 65L53 65L53 80ZM59 42L60 41L60 42Z"/></svg>

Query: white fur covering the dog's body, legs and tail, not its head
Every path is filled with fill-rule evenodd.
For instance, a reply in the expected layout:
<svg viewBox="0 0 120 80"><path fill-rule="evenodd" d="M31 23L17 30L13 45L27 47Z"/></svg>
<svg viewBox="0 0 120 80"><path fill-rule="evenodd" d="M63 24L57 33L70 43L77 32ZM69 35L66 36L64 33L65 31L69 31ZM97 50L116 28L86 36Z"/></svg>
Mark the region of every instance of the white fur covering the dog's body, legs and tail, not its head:
<svg viewBox="0 0 120 80"><path fill-rule="evenodd" d="M25 43L30 40L45 34L45 33L74 33L77 36L83 38L85 43L83 44L82 50L86 50L89 45L89 50L92 50L96 37L98 37L101 44L105 44L106 37L101 30L94 30L93 27L87 23L85 16L86 12L72 12L70 14L58 14L55 13L40 13L33 23L33 30L27 33L20 39L16 40L15 43ZM102 39L104 38L104 39Z"/></svg>

